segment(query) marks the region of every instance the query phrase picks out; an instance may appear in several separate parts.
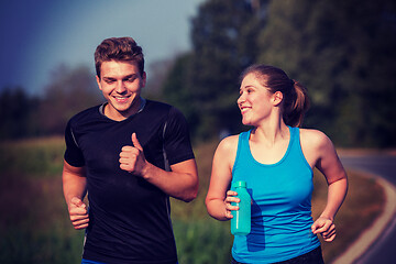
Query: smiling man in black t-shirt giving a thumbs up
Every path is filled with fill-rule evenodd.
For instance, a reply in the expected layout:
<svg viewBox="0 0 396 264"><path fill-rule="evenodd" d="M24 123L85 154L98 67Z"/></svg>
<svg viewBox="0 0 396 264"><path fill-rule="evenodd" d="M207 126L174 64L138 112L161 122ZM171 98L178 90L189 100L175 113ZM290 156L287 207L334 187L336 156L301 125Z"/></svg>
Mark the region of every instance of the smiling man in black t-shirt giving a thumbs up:
<svg viewBox="0 0 396 264"><path fill-rule="evenodd" d="M175 264L169 196L190 201L198 191L187 122L141 97L146 74L133 38L105 40L95 63L107 102L65 132L63 189L73 226L86 228L81 263Z"/></svg>

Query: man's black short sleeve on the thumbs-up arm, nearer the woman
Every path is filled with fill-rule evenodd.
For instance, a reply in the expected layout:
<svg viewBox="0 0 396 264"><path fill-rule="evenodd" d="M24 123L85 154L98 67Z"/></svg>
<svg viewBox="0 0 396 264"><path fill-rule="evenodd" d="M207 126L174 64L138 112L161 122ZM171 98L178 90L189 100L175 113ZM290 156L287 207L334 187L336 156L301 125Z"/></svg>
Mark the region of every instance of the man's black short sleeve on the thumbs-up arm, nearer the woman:
<svg viewBox="0 0 396 264"><path fill-rule="evenodd" d="M176 108L170 108L165 124L164 148L169 165L194 158L187 120Z"/></svg>

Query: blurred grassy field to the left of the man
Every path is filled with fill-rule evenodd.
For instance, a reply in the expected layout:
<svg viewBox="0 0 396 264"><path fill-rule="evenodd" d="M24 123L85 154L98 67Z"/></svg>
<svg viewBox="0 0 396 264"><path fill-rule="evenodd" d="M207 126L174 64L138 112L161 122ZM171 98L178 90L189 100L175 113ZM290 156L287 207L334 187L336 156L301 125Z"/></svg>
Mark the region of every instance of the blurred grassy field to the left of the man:
<svg viewBox="0 0 396 264"><path fill-rule="evenodd" d="M0 145L0 263L78 263L84 232L62 193L63 140Z"/></svg>

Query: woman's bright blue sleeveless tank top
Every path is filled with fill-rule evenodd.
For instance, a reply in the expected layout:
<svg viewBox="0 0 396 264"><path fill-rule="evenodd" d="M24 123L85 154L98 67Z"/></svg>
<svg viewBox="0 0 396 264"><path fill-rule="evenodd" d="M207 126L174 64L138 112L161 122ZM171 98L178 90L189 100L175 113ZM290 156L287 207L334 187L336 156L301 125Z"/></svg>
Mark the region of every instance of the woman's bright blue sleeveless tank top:
<svg viewBox="0 0 396 264"><path fill-rule="evenodd" d="M301 151L299 129L288 128L287 151L270 165L254 160L251 131L239 135L232 183L245 180L253 204L251 233L234 237L232 255L238 262L280 262L320 245L310 229L314 173Z"/></svg>

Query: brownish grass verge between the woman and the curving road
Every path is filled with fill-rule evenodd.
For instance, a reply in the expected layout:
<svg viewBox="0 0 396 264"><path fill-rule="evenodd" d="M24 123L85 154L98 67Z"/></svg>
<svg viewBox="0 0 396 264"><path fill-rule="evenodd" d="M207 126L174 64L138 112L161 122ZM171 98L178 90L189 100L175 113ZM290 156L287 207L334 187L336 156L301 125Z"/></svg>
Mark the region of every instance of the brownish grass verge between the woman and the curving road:
<svg viewBox="0 0 396 264"><path fill-rule="evenodd" d="M327 184L323 177L315 180L312 198L312 216L316 219L327 201ZM382 187L373 178L367 178L354 172L348 172L349 190L346 198L336 217L337 237L331 243L321 238L321 246L326 263L331 263L340 256L358 237L369 228L381 215L384 208L385 195ZM320 179L318 179L320 178Z"/></svg>

